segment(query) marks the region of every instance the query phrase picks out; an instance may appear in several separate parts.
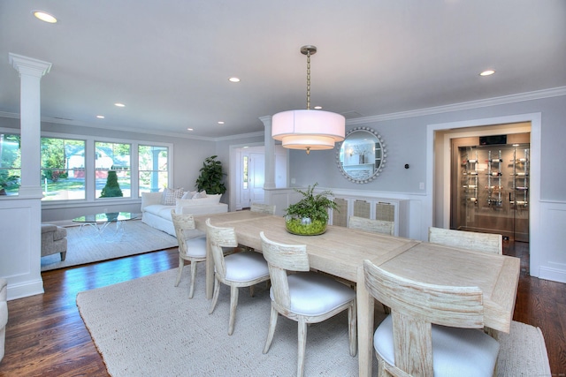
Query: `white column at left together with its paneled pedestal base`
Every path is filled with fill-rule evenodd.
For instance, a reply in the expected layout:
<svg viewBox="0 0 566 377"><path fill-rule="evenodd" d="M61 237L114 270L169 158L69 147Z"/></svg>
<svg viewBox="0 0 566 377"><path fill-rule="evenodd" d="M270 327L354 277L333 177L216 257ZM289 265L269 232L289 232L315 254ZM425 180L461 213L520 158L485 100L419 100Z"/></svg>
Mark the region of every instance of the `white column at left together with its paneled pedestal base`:
<svg viewBox="0 0 566 377"><path fill-rule="evenodd" d="M21 174L19 195L0 200L0 276L8 299L43 293L40 80L51 64L9 54L20 78Z"/></svg>

